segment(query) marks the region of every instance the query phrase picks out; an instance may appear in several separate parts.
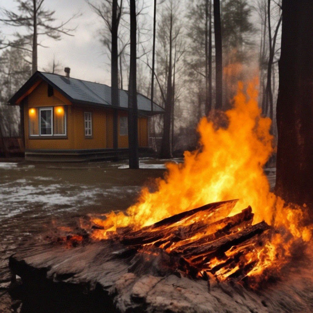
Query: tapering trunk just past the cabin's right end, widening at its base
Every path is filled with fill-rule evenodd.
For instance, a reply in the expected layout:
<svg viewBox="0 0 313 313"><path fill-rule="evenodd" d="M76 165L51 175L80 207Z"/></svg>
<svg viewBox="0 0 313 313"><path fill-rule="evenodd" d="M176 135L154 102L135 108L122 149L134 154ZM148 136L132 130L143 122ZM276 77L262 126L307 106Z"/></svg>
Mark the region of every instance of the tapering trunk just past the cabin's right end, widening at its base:
<svg viewBox="0 0 313 313"><path fill-rule="evenodd" d="M173 26L173 14L171 12L170 18L170 41L169 41L169 63L168 63L168 75L167 75L167 94L165 101L165 112L163 117L163 138L160 156L162 158L171 158L171 112L172 112L172 26Z"/></svg>

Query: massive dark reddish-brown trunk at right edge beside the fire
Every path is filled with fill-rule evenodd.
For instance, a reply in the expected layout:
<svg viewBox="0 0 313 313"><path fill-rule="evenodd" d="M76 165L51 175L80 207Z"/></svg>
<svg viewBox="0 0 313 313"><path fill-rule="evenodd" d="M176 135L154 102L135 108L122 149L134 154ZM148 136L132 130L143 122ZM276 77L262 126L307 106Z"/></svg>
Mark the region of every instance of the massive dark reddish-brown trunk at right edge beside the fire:
<svg viewBox="0 0 313 313"><path fill-rule="evenodd" d="M282 8L275 191L313 205L313 2L283 0Z"/></svg>

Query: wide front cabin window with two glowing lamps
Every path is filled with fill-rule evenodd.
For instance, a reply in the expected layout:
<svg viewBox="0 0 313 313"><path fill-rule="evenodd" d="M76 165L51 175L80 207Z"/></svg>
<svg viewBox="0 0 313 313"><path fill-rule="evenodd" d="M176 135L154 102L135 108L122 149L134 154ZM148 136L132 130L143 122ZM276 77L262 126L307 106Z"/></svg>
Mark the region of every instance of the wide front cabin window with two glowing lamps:
<svg viewBox="0 0 313 313"><path fill-rule="evenodd" d="M30 108L29 136L65 136L66 108L64 106Z"/></svg>

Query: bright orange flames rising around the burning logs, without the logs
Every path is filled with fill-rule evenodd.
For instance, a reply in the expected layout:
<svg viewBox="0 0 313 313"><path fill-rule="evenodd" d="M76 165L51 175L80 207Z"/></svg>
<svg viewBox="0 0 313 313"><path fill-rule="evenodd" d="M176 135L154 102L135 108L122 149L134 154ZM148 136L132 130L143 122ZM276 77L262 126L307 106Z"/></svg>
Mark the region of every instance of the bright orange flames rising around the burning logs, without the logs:
<svg viewBox="0 0 313 313"><path fill-rule="evenodd" d="M309 241L311 228L301 224L303 211L286 207L270 192L263 167L273 152L273 136L269 133L271 120L261 116L257 85L257 79L249 82L246 95L244 83L239 82L233 108L224 113L228 125L217 127L216 122L203 117L198 125L201 147L185 151L182 164L167 163L165 178L157 180L158 190L151 193L143 188L138 202L126 213L111 212L105 220L94 219L104 227L93 233L94 238L104 239L107 231L119 227L138 229L207 203L239 198L229 216L250 205L254 223L264 220L275 227L283 226L293 236L286 239L276 234L265 246L255 247L252 253L259 262L249 275L282 266L293 240ZM219 276L223 279L223 273Z"/></svg>

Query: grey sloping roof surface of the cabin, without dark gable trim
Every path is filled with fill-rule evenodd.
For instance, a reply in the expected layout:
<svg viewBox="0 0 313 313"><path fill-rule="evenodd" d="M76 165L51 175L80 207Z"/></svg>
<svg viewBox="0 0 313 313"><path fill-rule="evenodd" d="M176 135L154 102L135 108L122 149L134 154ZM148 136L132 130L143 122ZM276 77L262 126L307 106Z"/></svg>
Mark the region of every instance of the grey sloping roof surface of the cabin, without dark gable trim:
<svg viewBox="0 0 313 313"><path fill-rule="evenodd" d="M95 105L111 105L111 87L103 84L92 83L90 81L79 80L72 77L64 77L57 74L40 72L47 80L69 95L74 101L89 102ZM128 93L119 90L120 107L128 107ZM151 111L151 100L137 93L138 110ZM153 104L154 112L164 112L156 103Z"/></svg>

